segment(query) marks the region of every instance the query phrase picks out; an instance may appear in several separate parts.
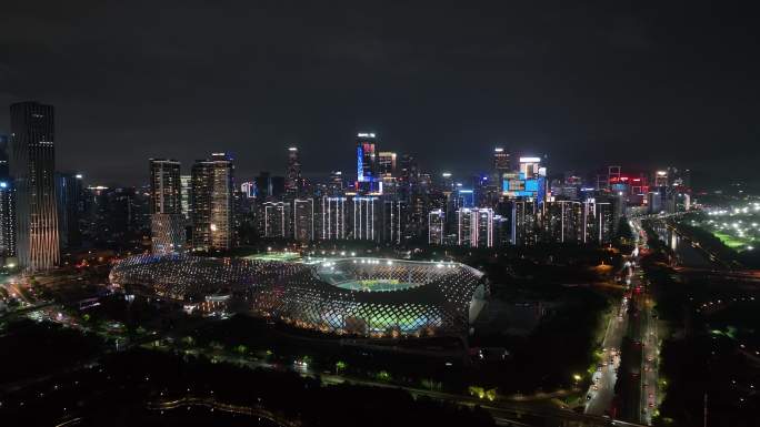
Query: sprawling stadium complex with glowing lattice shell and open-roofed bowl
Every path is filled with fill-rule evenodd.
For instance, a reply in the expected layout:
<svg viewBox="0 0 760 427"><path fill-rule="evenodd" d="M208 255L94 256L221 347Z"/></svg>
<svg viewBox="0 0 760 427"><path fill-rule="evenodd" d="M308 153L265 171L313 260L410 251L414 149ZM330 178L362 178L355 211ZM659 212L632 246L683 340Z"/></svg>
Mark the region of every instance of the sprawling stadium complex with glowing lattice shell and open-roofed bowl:
<svg viewBox="0 0 760 427"><path fill-rule="evenodd" d="M188 309L226 307L367 337L464 334L488 295L483 274L463 264L368 257L279 262L138 255L119 261L110 281Z"/></svg>

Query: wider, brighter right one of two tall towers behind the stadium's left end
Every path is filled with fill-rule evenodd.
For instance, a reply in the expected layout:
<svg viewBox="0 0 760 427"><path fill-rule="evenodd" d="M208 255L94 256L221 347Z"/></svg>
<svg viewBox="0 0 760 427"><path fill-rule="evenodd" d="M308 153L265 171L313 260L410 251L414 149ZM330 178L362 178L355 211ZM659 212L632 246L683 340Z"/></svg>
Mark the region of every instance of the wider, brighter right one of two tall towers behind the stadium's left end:
<svg viewBox="0 0 760 427"><path fill-rule="evenodd" d="M192 166L192 244L199 250L232 247L232 157L213 153Z"/></svg>

